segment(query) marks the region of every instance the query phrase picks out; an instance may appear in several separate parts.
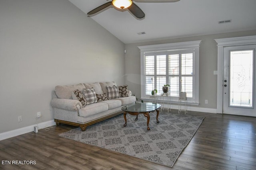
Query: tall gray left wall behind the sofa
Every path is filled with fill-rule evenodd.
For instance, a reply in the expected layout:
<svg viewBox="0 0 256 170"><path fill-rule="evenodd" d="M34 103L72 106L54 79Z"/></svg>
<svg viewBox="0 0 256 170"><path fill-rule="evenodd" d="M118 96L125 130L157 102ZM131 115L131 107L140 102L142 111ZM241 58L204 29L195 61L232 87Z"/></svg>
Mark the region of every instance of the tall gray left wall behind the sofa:
<svg viewBox="0 0 256 170"><path fill-rule="evenodd" d="M68 0L0 0L0 133L52 120L56 85L124 71L124 43Z"/></svg>

